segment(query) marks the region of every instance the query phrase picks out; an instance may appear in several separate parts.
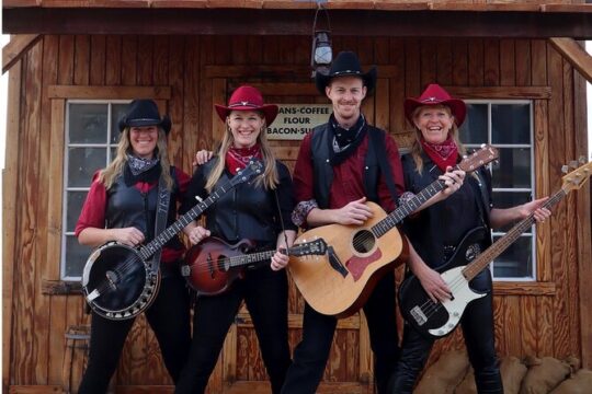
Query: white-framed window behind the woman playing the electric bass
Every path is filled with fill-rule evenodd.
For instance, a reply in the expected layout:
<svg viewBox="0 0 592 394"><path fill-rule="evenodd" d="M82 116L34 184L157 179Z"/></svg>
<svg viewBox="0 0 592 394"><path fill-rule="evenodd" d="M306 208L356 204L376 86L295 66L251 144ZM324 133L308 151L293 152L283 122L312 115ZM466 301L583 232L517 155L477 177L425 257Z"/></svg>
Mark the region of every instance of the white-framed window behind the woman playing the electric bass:
<svg viewBox="0 0 592 394"><path fill-rule="evenodd" d="M493 205L509 208L530 201L534 195L533 108L531 101L467 100L467 120L460 140L469 148L490 143L500 159L490 165ZM511 228L493 232L497 241ZM523 233L491 265L497 280L535 280L535 227Z"/></svg>

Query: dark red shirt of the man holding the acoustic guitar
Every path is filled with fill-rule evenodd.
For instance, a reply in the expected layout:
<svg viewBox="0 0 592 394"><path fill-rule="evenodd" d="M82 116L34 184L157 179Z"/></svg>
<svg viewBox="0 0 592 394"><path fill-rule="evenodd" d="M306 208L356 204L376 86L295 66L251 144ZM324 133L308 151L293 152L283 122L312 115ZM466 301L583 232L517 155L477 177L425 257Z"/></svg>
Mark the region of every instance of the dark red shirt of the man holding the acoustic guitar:
<svg viewBox="0 0 592 394"><path fill-rule="evenodd" d="M357 150L351 154L344 162L333 166L333 183L329 192L329 208L338 209L351 201L364 197L364 162L368 151L368 136L357 147ZM312 167L312 152L310 149L311 134L308 134L300 144L298 159L294 167L294 190L296 202L315 199L315 172ZM390 171L395 177L397 194L401 196L405 192L401 160L397 143L389 136L385 139L387 160L390 164ZM378 198L380 206L387 212L396 208L388 186L383 176L378 182Z"/></svg>

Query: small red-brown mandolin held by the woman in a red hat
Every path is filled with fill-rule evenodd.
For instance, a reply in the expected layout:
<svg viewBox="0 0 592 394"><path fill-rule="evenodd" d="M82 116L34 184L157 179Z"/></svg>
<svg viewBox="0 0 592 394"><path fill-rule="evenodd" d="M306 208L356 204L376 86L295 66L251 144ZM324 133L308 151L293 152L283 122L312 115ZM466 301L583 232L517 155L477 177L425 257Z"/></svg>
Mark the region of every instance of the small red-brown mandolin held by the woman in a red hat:
<svg viewBox="0 0 592 394"><path fill-rule="evenodd" d="M197 294L220 294L230 288L235 279L241 277L246 267L269 260L275 254L275 251L248 253L253 246L249 240L229 245L218 237L207 237L203 243L190 248L185 255L186 265L181 267L181 273L187 283L197 291ZM289 256L311 256L326 253L327 244L320 239L304 242L286 250L286 254Z"/></svg>

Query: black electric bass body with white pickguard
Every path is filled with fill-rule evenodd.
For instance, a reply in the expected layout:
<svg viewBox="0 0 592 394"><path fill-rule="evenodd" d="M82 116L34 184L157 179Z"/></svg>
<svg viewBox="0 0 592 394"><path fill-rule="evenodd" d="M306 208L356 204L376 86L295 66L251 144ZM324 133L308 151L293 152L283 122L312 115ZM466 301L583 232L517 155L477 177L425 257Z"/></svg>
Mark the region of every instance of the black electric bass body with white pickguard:
<svg viewBox="0 0 592 394"><path fill-rule="evenodd" d="M433 302L415 276L403 280L399 287L399 306L405 320L415 331L432 338L451 334L460 322L467 304L487 294L474 291L463 275L466 265L483 251L481 242L487 236L483 228L471 230L448 262L435 269L451 289L452 299Z"/></svg>

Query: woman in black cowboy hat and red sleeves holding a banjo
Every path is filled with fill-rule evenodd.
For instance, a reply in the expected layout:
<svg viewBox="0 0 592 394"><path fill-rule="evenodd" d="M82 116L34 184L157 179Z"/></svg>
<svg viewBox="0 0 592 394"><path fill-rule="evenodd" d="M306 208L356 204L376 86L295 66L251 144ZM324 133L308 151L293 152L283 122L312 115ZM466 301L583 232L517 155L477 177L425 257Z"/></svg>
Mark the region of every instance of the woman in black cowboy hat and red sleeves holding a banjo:
<svg viewBox="0 0 592 394"><path fill-rule="evenodd" d="M117 241L136 246L151 241L157 235L155 221L161 178L170 190L167 225L177 219L177 202L190 177L169 162L170 129L169 117L160 117L153 101L136 100L129 104L119 120L115 159L94 175L82 206L76 225L81 244L100 246ZM160 290L146 310L173 382L179 378L191 343L189 294L178 265L184 251L178 237L162 248ZM106 392L134 321L113 321L92 313L89 363L79 393Z"/></svg>

